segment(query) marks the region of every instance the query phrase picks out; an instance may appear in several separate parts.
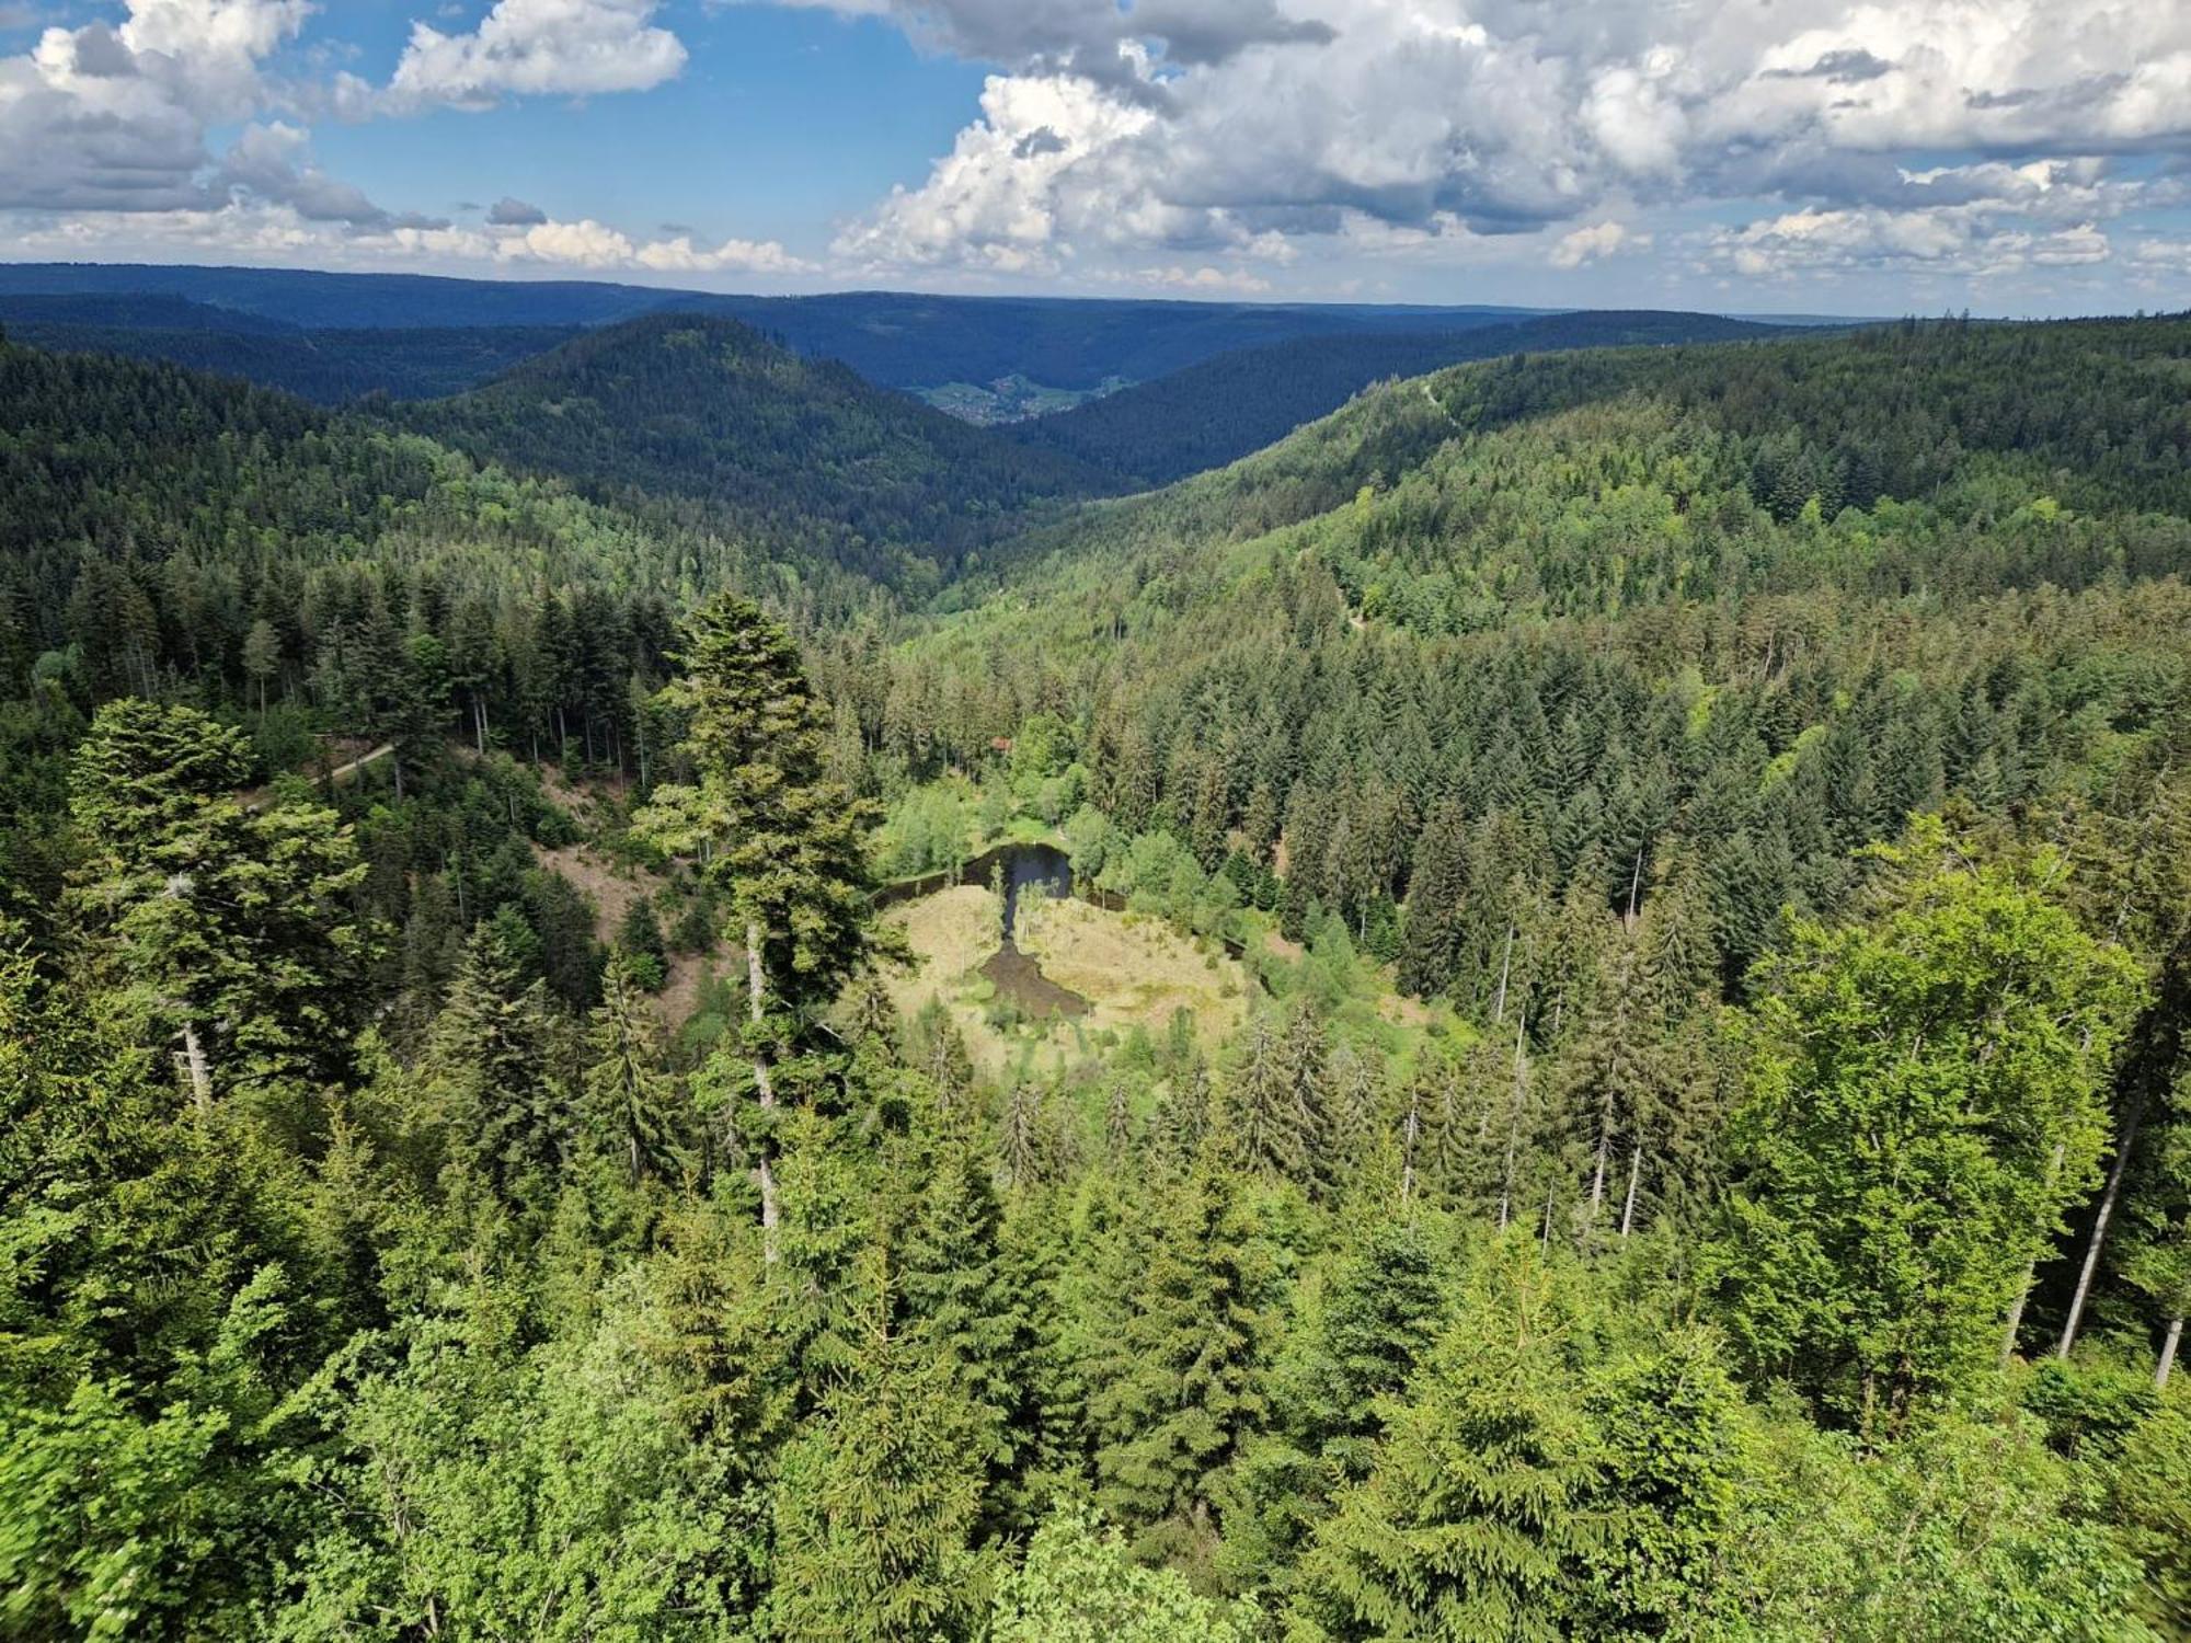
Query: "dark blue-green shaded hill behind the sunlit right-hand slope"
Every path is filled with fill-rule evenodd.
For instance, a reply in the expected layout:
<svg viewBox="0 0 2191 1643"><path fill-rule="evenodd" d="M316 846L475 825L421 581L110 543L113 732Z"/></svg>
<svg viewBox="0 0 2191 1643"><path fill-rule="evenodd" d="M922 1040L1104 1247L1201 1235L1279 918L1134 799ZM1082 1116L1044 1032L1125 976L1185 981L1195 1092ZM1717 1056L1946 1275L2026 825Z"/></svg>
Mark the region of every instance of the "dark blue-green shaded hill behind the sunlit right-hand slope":
<svg viewBox="0 0 2191 1643"><path fill-rule="evenodd" d="M1074 410L1019 423L1014 438L1076 456L1135 486L1225 467L1326 416L1363 388L1461 359L1560 348L1722 342L1786 331L1711 313L1558 313L1468 331L1290 337L1203 359Z"/></svg>

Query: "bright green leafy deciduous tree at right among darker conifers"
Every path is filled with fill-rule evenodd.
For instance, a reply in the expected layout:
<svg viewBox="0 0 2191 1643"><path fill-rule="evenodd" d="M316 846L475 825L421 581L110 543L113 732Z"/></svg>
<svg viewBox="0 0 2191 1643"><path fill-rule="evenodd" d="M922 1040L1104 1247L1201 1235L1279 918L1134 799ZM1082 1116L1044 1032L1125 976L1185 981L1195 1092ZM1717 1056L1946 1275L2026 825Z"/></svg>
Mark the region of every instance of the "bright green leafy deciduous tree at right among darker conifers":
<svg viewBox="0 0 2191 1643"><path fill-rule="evenodd" d="M1748 1358L1867 1433L2000 1356L2138 997L2049 900L2049 857L1974 865L1928 830L1893 865L1875 924L1799 927L1764 975L1709 1260Z"/></svg>

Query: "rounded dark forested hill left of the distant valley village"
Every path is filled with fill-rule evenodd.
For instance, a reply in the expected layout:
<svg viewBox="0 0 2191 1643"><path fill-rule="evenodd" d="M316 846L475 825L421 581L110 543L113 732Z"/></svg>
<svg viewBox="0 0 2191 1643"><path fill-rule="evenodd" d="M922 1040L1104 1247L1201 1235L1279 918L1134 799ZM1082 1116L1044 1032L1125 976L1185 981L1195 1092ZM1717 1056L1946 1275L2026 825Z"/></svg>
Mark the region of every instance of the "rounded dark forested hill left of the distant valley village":
<svg viewBox="0 0 2191 1643"><path fill-rule="evenodd" d="M1106 489L1071 458L697 313L587 331L401 421L480 460L629 506L677 499L876 574L883 548L955 552L1030 506Z"/></svg>

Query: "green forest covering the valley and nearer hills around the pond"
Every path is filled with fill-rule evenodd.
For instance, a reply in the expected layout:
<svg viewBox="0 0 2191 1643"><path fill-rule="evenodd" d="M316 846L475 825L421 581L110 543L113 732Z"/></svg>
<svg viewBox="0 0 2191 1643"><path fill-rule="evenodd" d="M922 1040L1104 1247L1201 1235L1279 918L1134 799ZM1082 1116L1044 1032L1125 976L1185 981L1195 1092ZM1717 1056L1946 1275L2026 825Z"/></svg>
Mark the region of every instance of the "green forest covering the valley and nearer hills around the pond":
<svg viewBox="0 0 2191 1643"><path fill-rule="evenodd" d="M0 342L0 1639L2191 1636L2191 318L1615 340Z"/></svg>

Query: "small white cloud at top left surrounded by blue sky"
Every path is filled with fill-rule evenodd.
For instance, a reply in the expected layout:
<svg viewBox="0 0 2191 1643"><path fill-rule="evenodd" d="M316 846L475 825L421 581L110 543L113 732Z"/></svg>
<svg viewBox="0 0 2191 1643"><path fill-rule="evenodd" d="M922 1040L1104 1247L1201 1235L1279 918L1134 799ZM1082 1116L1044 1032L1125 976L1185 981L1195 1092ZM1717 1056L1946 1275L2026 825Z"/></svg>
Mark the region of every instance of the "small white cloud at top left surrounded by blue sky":
<svg viewBox="0 0 2191 1643"><path fill-rule="evenodd" d="M500 0L469 35L414 22L388 105L486 110L504 96L644 92L686 66L657 0Z"/></svg>

